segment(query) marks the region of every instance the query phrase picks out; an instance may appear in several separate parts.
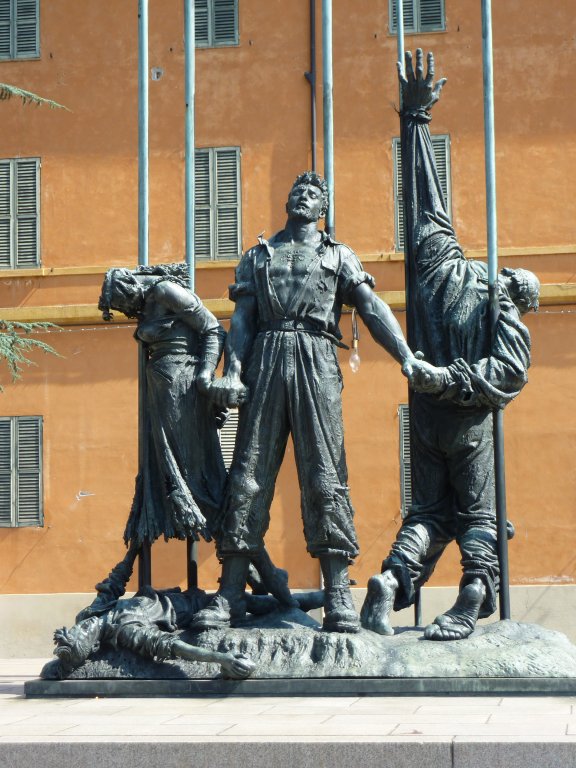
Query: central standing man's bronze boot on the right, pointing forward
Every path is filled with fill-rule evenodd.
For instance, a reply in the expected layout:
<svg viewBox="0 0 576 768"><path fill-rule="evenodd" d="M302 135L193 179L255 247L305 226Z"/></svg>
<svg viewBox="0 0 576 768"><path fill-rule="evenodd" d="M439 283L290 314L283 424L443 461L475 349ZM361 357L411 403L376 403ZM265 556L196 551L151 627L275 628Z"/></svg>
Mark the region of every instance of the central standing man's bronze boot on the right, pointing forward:
<svg viewBox="0 0 576 768"><path fill-rule="evenodd" d="M324 577L324 621L326 632L358 632L360 619L354 608L348 576L348 558L323 555L320 567Z"/></svg>

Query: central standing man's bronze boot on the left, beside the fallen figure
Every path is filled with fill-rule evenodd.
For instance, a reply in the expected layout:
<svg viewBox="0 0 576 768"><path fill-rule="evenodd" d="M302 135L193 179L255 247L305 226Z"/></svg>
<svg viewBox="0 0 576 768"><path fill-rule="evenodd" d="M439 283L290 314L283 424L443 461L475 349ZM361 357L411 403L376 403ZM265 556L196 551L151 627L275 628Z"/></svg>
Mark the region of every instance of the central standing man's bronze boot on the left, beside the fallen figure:
<svg viewBox="0 0 576 768"><path fill-rule="evenodd" d="M242 555L223 558L220 589L206 608L194 616L191 629L222 629L241 621L246 615L246 577L250 559Z"/></svg>

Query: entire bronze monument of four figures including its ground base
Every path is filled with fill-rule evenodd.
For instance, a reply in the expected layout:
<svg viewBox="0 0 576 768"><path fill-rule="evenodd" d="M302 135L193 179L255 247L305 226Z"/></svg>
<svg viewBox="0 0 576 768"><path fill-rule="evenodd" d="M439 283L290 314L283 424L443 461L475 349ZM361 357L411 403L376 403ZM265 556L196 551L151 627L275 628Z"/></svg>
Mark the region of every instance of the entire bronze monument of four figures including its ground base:
<svg viewBox="0 0 576 768"><path fill-rule="evenodd" d="M75 625L56 631L56 659L28 695L62 695L59 685L79 681L92 694L121 695L111 680L150 680L148 695L310 693L319 678L323 692L573 691L576 648L564 636L511 621L476 626L494 611L499 583L492 414L526 383L530 337L521 317L537 308L539 283L525 270L502 271L491 334L486 268L464 257L434 166L428 123L444 81L434 83L431 54L424 74L420 50L415 68L406 55L399 76L414 352L353 251L319 230L328 198L315 173L297 177L285 228L261 238L236 270L221 378L214 372L224 332L177 265L111 270L100 308L134 317L147 349L149 451L126 528L128 553ZM345 304L400 363L414 393L414 503L383 572L370 580L362 626L348 576L358 545L336 355ZM231 406L240 422L226 477L216 428ZM264 549L290 434L307 547L324 577L319 592L292 594ZM160 535L214 539L222 562L214 595L145 586L122 599L139 547ZM394 633L392 609L412 602L453 540L463 571L455 605L424 632ZM320 607L322 624L307 613Z"/></svg>

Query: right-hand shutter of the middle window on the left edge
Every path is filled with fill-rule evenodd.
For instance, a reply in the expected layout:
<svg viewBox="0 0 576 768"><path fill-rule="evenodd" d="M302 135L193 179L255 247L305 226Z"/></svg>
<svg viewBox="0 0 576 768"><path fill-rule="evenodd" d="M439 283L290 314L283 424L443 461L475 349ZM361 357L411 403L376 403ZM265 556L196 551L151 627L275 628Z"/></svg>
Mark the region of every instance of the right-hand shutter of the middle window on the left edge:
<svg viewBox="0 0 576 768"><path fill-rule="evenodd" d="M38 160L16 160L16 267L38 266Z"/></svg>

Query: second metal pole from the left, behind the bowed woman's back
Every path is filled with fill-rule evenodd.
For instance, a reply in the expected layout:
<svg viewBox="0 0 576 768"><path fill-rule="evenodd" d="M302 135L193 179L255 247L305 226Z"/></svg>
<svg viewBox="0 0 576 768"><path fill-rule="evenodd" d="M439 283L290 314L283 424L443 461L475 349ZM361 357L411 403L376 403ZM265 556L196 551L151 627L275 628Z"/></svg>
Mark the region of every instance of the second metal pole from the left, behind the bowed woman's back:
<svg viewBox="0 0 576 768"><path fill-rule="evenodd" d="M195 135L194 108L196 97L196 25L194 0L184 0L184 89L185 89L185 125L184 125L184 210L186 265L188 267L188 285L195 289L195 254L194 254L194 208L195 208ZM198 586L198 545L188 537L186 541L186 563L188 587Z"/></svg>

